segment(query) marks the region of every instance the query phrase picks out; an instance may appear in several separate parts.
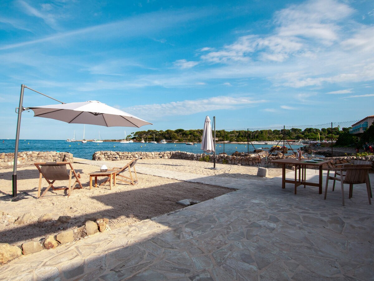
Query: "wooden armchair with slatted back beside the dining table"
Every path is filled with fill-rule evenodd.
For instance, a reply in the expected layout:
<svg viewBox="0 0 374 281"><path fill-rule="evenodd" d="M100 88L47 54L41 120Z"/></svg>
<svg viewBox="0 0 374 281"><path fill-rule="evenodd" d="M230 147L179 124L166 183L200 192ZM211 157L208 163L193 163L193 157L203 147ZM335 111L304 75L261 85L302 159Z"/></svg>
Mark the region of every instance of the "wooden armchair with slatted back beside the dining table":
<svg viewBox="0 0 374 281"><path fill-rule="evenodd" d="M363 184L366 183L366 189L368 193L369 204L371 205L371 187L370 187L370 180L369 180L369 170L371 169L372 164L343 164L340 165L337 169L339 170L339 177L334 174L334 176L330 176L330 170L327 171L327 178L326 178L326 187L325 187L325 198L327 196L327 186L329 179L333 181L340 181L341 185L341 199L344 206L344 184L349 184L349 198L352 197L353 194L353 184ZM345 171L345 175L343 175L343 171Z"/></svg>

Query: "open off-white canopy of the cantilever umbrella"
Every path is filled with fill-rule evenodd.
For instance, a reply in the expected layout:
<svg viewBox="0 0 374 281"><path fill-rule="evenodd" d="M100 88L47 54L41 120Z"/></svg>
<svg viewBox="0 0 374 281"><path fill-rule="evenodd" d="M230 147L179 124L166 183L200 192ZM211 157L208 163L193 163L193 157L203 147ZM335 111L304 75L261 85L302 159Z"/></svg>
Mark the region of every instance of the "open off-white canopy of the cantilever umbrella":
<svg viewBox="0 0 374 281"><path fill-rule="evenodd" d="M97 100L32 106L29 109L34 111L35 117L51 118L67 123L138 128L144 125L152 125L152 123Z"/></svg>

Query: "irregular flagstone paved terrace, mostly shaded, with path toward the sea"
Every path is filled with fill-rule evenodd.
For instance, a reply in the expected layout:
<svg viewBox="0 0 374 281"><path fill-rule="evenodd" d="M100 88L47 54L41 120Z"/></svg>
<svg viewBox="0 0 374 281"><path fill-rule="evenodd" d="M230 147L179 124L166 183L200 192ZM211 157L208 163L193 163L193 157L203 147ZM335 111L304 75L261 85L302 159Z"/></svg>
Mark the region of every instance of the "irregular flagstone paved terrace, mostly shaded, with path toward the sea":
<svg viewBox="0 0 374 281"><path fill-rule="evenodd" d="M23 256L0 267L0 280L374 280L374 203L365 185L352 199L347 186L342 206L331 185L323 200L316 187L282 190L279 177L223 181L137 170L238 190ZM318 175L307 170L307 178Z"/></svg>

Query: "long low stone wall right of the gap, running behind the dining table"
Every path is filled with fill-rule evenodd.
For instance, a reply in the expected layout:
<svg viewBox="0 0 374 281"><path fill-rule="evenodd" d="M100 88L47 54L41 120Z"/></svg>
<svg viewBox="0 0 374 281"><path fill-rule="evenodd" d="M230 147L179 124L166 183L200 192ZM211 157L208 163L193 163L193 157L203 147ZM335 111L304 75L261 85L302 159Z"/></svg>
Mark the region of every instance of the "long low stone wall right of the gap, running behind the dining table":
<svg viewBox="0 0 374 281"><path fill-rule="evenodd" d="M280 167L279 164L269 163L268 161L277 160L284 158L282 154L277 156L269 156L267 152L261 152L260 156L257 153L249 154L249 156L231 156L226 154L216 155L216 163L224 164L240 164L243 166L258 166L258 167ZM133 158L142 159L185 159L195 161L207 161L213 162L213 155L209 154L195 154L184 151L162 151L162 152L121 152L121 151L96 151L92 155L92 160L131 160ZM286 158L293 158L293 156L286 156ZM356 156L344 156L344 157L328 157L326 160L331 162L323 165L323 169L333 168L335 164L350 163L353 160L365 160L374 162L374 155L356 157Z"/></svg>

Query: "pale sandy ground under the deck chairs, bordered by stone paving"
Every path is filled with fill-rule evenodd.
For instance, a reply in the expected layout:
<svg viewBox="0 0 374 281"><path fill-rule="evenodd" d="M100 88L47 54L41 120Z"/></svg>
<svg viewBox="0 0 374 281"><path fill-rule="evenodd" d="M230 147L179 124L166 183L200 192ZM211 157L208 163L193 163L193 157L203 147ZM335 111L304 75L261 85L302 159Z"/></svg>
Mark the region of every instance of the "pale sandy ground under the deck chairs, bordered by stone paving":
<svg viewBox="0 0 374 281"><path fill-rule="evenodd" d="M123 166L128 161L115 161L108 167ZM254 179L265 181L266 178L256 176L257 167L237 166L229 164L216 164L221 170L207 169L213 163L172 160L147 159L140 160L137 166L147 166L154 169L174 170L194 173L198 175L218 175L223 177ZM138 173L139 183L129 185L117 183L112 190L109 184L89 190L89 173L99 170L98 166L73 163L73 167L80 172L83 189L75 189L67 197L67 191L48 191L41 199L37 199L39 185L39 172L36 167L19 167L18 194L23 198L16 202L10 201L6 194L12 194L13 169L2 169L0 174L0 223L3 226L0 232L0 242L12 245L21 245L25 241L38 241L47 235L53 235L67 229L76 229L86 220L108 218L111 229L126 226L137 221L166 214L183 208L177 204L178 200L195 199L205 201L233 190L214 185L177 181L175 179L161 178ZM281 169L269 169L269 177L278 176ZM99 178L99 182L104 178ZM56 182L57 183L57 182ZM58 182L57 186L64 187L67 181ZM45 179L42 188L47 186ZM24 193L30 196L22 196ZM38 223L43 215L52 220ZM68 222L58 221L60 216L69 216ZM24 217L26 220L19 224Z"/></svg>

